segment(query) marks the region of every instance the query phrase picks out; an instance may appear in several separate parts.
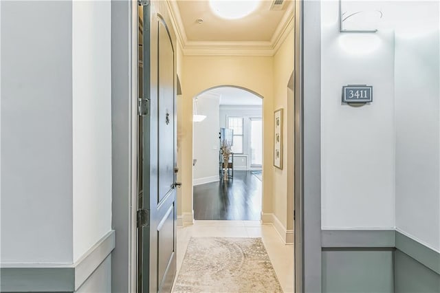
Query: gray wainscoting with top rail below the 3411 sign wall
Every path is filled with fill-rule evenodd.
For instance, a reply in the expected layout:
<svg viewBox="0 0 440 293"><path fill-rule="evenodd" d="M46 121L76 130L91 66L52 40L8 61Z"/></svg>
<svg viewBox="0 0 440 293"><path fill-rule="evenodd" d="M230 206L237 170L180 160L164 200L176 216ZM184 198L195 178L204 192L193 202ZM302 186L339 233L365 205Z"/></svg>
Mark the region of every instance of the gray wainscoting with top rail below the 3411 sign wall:
<svg viewBox="0 0 440 293"><path fill-rule="evenodd" d="M396 230L322 230L322 292L439 293L440 253Z"/></svg>

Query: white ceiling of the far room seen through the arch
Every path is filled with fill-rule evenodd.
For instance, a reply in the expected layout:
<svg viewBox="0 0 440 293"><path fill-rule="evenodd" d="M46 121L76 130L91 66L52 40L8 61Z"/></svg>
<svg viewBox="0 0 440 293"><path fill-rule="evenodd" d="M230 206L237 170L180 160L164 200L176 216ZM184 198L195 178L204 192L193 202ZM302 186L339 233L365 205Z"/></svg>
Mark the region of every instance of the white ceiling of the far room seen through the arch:
<svg viewBox="0 0 440 293"><path fill-rule="evenodd" d="M206 91L201 96L218 96L220 105L263 105L262 98L237 87L217 87Z"/></svg>

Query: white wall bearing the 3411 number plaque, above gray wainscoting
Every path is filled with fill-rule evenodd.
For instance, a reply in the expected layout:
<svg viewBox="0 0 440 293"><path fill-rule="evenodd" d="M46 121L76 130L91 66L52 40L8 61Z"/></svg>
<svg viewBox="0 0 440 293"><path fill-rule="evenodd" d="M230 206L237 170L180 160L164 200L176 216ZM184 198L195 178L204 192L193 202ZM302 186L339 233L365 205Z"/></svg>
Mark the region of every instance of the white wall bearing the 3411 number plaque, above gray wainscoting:
<svg viewBox="0 0 440 293"><path fill-rule="evenodd" d="M362 3L384 13L376 34L338 34L322 3L322 228L397 228L439 251L439 2ZM373 103L340 105L347 83Z"/></svg>

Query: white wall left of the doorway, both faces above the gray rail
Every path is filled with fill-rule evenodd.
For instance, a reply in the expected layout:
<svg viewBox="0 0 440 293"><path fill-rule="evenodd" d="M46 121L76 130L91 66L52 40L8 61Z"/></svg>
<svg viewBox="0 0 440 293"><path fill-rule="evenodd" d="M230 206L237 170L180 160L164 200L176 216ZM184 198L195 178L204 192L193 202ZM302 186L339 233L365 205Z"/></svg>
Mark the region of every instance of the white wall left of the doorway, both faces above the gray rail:
<svg viewBox="0 0 440 293"><path fill-rule="evenodd" d="M0 259L74 263L111 230L110 3L1 8Z"/></svg>

